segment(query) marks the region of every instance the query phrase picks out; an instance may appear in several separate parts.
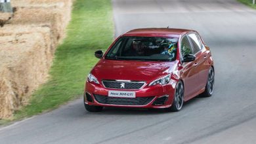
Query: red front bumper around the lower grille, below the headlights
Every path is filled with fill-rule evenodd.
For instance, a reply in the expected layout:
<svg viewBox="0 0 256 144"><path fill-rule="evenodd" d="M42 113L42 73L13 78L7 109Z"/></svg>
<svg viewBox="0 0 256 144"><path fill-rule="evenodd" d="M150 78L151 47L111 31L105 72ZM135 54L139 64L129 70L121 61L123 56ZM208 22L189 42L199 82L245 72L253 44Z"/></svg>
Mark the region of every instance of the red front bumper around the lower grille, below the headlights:
<svg viewBox="0 0 256 144"><path fill-rule="evenodd" d="M167 108L173 103L175 85L176 82L172 82L164 86L144 86L140 90L123 90L136 92L136 98L112 98L108 97L108 90L116 89L86 82L84 102L88 105L102 107Z"/></svg>

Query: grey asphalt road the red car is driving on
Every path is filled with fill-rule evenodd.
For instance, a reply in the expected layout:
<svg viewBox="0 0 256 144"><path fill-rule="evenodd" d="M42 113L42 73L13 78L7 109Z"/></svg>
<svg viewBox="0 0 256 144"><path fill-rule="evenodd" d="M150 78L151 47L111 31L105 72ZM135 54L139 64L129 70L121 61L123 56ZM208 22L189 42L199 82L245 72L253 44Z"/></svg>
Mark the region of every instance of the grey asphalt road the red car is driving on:
<svg viewBox="0 0 256 144"><path fill-rule="evenodd" d="M0 143L255 143L256 11L235 0L113 0L116 35L139 27L196 29L215 59L215 92L178 113L105 109L82 99L1 128Z"/></svg>

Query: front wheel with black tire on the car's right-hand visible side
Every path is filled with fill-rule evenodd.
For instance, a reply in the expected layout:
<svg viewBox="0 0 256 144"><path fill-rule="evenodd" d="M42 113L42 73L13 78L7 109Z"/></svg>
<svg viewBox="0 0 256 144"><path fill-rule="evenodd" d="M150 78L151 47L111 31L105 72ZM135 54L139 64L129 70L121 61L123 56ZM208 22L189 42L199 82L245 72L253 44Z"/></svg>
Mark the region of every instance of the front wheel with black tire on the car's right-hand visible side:
<svg viewBox="0 0 256 144"><path fill-rule="evenodd" d="M175 94L173 104L167 108L167 111L180 111L184 103L184 86L181 81L177 82L175 87Z"/></svg>

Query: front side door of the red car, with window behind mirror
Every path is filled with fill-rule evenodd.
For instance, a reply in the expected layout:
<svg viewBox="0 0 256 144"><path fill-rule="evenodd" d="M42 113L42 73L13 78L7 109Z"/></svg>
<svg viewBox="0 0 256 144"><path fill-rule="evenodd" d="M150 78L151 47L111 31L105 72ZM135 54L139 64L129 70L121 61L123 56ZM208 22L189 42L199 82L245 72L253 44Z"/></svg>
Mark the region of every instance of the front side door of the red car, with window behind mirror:
<svg viewBox="0 0 256 144"><path fill-rule="evenodd" d="M181 39L181 60L185 54L194 54L194 49L190 43L187 35ZM181 78L184 83L184 101L192 98L197 92L195 85L198 85L198 69L196 69L196 62L183 62L181 69Z"/></svg>

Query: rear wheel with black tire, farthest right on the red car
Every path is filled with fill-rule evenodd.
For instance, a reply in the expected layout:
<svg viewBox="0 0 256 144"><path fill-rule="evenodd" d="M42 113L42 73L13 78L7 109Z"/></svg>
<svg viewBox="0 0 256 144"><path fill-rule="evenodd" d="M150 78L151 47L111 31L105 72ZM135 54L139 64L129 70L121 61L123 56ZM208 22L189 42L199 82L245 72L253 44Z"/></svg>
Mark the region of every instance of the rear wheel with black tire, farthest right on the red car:
<svg viewBox="0 0 256 144"><path fill-rule="evenodd" d="M206 82L206 85L205 85L205 90L202 94L200 94L200 96L202 96L202 97L212 96L213 86L214 86L214 77L215 77L214 69L213 69L213 67L211 67L209 69L209 72L208 72L208 77L207 77L207 82Z"/></svg>

